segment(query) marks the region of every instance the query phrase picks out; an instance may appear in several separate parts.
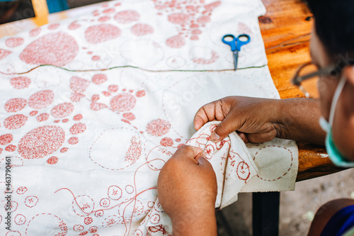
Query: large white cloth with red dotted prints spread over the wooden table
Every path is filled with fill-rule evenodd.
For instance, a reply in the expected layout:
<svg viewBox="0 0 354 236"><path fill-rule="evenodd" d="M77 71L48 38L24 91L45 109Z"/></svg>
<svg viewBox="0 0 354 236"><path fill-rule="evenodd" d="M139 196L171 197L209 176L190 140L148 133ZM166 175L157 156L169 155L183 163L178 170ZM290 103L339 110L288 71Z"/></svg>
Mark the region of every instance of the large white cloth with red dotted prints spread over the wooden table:
<svg viewBox="0 0 354 236"><path fill-rule="evenodd" d="M195 133L198 108L232 95L279 98L258 26L257 16L265 12L261 1L185 1L168 12L158 10L161 2L111 1L79 18L0 40L0 176L11 156L13 235L171 234L156 180L164 162ZM167 40L182 27L172 21L184 16L173 14L188 13L190 5L200 6L198 18L210 13L210 22L202 18L200 34L188 29L185 45L171 47ZM232 70L232 53L221 43L226 33L251 35L239 67L256 68ZM100 70L110 67L116 68ZM258 174L278 167L273 157L289 160L290 152L294 164L274 181L253 176L244 190L292 189L295 142L263 145L247 146ZM229 189L238 179L232 169L225 171L232 176L224 182ZM236 201L236 191L220 194L222 206ZM1 206L1 235L5 215Z"/></svg>

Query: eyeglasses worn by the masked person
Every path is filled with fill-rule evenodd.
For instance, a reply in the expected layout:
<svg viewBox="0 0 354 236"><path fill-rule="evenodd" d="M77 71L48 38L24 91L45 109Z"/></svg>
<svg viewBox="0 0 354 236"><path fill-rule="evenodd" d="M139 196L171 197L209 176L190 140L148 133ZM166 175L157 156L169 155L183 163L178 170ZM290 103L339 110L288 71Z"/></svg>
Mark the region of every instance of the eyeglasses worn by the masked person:
<svg viewBox="0 0 354 236"><path fill-rule="evenodd" d="M292 84L299 86L299 89L307 98L318 99L319 89L317 83L319 82L319 77L336 76L340 72L341 70L337 67L318 69L318 67L312 62L307 62L297 69L291 82Z"/></svg>

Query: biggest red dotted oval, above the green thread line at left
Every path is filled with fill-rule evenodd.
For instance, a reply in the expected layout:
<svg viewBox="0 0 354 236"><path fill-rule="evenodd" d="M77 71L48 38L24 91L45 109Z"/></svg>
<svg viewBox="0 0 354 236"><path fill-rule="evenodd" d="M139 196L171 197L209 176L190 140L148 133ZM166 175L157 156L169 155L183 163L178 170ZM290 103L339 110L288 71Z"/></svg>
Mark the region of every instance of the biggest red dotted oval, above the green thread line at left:
<svg viewBox="0 0 354 236"><path fill-rule="evenodd" d="M53 64L64 67L74 60L79 52L76 40L67 33L50 33L30 43L20 59L27 64Z"/></svg>

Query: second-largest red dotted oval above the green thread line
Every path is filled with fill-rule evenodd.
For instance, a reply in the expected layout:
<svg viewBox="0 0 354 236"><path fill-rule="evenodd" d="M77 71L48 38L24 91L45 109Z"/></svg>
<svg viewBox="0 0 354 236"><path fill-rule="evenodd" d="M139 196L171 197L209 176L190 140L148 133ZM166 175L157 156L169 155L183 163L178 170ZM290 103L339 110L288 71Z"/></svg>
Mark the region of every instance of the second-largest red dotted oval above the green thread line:
<svg viewBox="0 0 354 236"><path fill-rule="evenodd" d="M102 43L107 40L118 38L121 30L110 24L101 24L98 26L90 26L85 31L85 38L89 43Z"/></svg>

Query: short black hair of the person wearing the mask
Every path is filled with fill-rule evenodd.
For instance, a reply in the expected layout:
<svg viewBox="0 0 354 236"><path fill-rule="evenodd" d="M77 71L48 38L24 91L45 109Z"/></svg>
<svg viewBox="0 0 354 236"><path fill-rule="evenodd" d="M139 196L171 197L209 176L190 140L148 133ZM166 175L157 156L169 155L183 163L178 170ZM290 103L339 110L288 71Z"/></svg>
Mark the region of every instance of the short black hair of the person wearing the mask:
<svg viewBox="0 0 354 236"><path fill-rule="evenodd" d="M331 60L354 60L354 0L305 0Z"/></svg>

